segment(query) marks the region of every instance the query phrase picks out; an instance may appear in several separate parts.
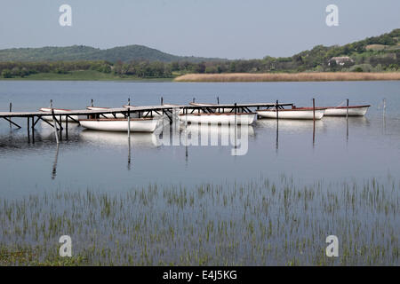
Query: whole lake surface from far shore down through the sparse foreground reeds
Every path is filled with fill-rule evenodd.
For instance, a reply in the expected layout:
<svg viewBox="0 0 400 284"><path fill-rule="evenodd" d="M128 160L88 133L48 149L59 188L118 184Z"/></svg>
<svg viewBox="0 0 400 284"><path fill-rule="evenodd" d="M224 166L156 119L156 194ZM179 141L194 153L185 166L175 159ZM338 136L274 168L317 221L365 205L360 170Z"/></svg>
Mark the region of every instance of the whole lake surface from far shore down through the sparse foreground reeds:
<svg viewBox="0 0 400 284"><path fill-rule="evenodd" d="M22 125L21 130L16 130L10 129L9 123L3 120L0 122L0 197L4 200L3 212L12 208L10 204L13 202L23 208L36 200L36 205L27 209L35 213L32 216L36 216L36 220L31 217L26 223L44 222L44 231L27 229L25 234L12 234L10 232L15 232L17 224L23 224L23 219L15 213L7 221L7 217L2 215L5 213L0 213L3 230L11 230L7 234L3 232L2 243L8 245L17 239L16 243L20 244L44 246L45 241L50 241L57 245L60 230L55 230L53 235L46 235L45 228L49 224L44 220L48 216L59 216L62 220L77 210L83 215L70 217L75 224L92 215L101 216L101 220L97 220L99 224L93 221L91 225L84 226L83 231L74 231L76 239L81 240L81 245L77 247L81 253L87 252L86 248L91 246L86 237L87 232L93 229L102 232L102 236L108 236L112 231L115 233L112 238L125 240L121 248L116 247L115 242L105 241L108 237L99 237L96 240L110 249L108 258L100 253L95 254L96 257L88 254L88 264L109 264L109 257L113 258L118 251L124 250L135 252L138 256L133 257L132 263L128 261L129 256L118 256L113 258L116 264L368 264L366 259L375 260L370 264L398 264L398 81L0 81L2 111L8 111L10 102L13 111L33 111L49 106L51 99L54 107L84 109L90 106L91 99L95 106L119 107L126 104L128 98L136 106L159 105L161 97L164 103L172 104L188 104L194 98L196 102L216 103L219 97L221 104L275 102L278 99L281 103L312 106L312 99L315 98L316 106L343 105L345 99L349 99L350 105L372 106L364 117L349 117L348 121L344 117L324 117L316 122L315 128L312 121L280 120L276 130L276 120L259 119L246 130L248 145L246 153L242 155L232 155L232 146L167 146L160 142L164 134L160 136L158 133L132 133L129 145L126 133L88 131L77 125L69 125L68 140L61 141L60 146L57 146L52 129L41 122L37 124L33 144L28 143L26 121L15 119ZM385 109L383 99L386 99ZM164 127L164 130L168 129L168 126ZM381 191L383 195L372 198L370 195L377 192L377 185L378 192ZM153 191L155 187L158 188L156 192ZM89 192L98 195L90 199ZM350 192L353 193L353 199ZM64 193L64 197L59 196L59 193ZM312 196L304 197L308 193ZM47 194L50 196L50 204L44 201L47 200L44 198ZM108 194L117 196L113 203L115 207L108 209L111 215L104 215L101 206L90 206L96 198L99 198L99 204L107 205ZM141 199L132 197L140 194L143 194ZM104 196L105 203L101 199ZM329 201L331 197L332 203ZM137 211L123 209L127 200L134 200L132 202L136 204ZM268 217L262 213L266 206L264 201L269 202L268 214L264 212ZM287 208L289 203L286 203L289 201L292 206L290 212ZM6 202L10 203L7 205ZM358 204L358 210L354 208L355 204ZM307 209L308 206L310 209ZM42 216L42 211L48 215ZM348 216L351 212L353 215ZM124 219L126 216L132 218ZM144 216L148 216L151 225L143 225ZM123 225L109 225L107 221L110 218L120 220ZM144 258L143 244L130 239L129 236L132 237L134 232L128 229L132 234L126 233L123 229L129 228L133 219L145 228L142 233L147 232L144 234L149 241L146 246L149 246L147 253L152 256L151 260ZM228 227L227 233L225 226L229 222L236 222L236 226ZM68 227L61 223L60 227ZM198 226L193 228L193 224ZM159 226L160 231L164 230L161 238L164 241L151 239L150 236L156 230L154 225ZM297 233L293 232L293 227ZM188 228L191 228L190 233ZM336 234L346 235L343 238L346 238L346 248L351 256L340 257L338 261L326 261L321 253L325 247L324 236L332 233L334 228L337 229ZM349 228L351 240L348 239L346 228ZM204 238L207 238L204 232L210 230L211 237L204 242ZM271 230L268 242L262 241L266 238L263 230ZM352 234L353 230L356 233ZM218 239L221 232L227 233L223 240ZM380 237L377 236L379 232L382 233ZM299 233L304 239L299 237ZM174 239L172 234L180 237ZM236 234L237 239L232 239L232 234ZM319 241L308 242L316 240L316 236L320 237ZM192 239L196 241L192 242ZM131 240L132 246L126 240ZM249 240L254 244L253 247ZM284 247L284 241L288 240L289 248ZM304 248L298 248L297 245L303 244L303 241ZM355 241L359 245L356 250L353 249ZM184 245L180 246L180 243ZM232 250L218 252L219 248L215 247L221 243L230 243L228 246ZM162 244L165 246L163 253L160 252ZM272 248L268 250L271 245ZM168 249L167 246L172 247ZM254 249L259 248L257 246L264 249L261 249L265 254L262 257L254 253ZM172 248L177 252L174 253ZM202 253L199 252L197 256L191 254L194 249L200 251L200 248L203 249ZM224 248L227 247L220 247L222 250ZM375 250L368 250L372 248L387 254L374 255ZM49 249L43 248L43 259ZM364 255L357 253L357 249ZM182 256L188 258L182 261Z"/></svg>

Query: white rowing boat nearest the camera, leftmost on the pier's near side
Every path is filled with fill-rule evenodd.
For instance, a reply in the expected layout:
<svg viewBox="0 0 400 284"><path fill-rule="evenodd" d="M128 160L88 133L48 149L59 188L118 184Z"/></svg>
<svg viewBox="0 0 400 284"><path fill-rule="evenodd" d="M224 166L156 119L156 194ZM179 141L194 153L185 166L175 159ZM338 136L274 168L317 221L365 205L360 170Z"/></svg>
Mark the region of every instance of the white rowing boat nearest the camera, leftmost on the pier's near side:
<svg viewBox="0 0 400 284"><path fill-rule="evenodd" d="M79 122L84 128L89 130L128 131L127 118L80 119ZM154 132L158 125L158 120L152 118L131 118L130 124L132 132Z"/></svg>

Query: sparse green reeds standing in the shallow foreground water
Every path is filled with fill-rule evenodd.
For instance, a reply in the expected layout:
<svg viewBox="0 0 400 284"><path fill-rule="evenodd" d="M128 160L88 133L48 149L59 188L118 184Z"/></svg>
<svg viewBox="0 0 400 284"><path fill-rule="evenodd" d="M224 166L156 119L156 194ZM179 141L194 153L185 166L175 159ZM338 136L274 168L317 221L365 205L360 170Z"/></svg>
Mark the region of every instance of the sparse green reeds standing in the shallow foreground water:
<svg viewBox="0 0 400 284"><path fill-rule="evenodd" d="M398 265L393 177L148 185L0 200L1 265ZM72 257L58 256L61 235ZM325 238L340 240L325 256Z"/></svg>

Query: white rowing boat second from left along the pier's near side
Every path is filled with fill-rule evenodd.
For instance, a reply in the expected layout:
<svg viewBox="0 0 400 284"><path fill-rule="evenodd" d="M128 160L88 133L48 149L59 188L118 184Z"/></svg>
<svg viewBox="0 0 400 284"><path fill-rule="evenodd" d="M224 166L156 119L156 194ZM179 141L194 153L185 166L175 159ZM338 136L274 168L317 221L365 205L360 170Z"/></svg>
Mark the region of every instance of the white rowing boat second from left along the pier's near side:
<svg viewBox="0 0 400 284"><path fill-rule="evenodd" d="M250 125L256 120L255 113L180 114L180 121L190 123Z"/></svg>

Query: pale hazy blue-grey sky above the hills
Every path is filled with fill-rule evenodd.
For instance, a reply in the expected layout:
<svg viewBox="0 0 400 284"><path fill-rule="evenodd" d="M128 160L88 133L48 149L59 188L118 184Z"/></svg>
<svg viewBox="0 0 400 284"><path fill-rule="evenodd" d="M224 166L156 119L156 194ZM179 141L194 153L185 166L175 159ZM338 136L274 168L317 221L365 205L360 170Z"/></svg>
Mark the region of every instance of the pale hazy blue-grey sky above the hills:
<svg viewBox="0 0 400 284"><path fill-rule="evenodd" d="M61 4L72 27L59 24ZM339 27L325 8L339 7ZM0 49L142 44L176 55L291 56L400 28L400 0L0 0Z"/></svg>

